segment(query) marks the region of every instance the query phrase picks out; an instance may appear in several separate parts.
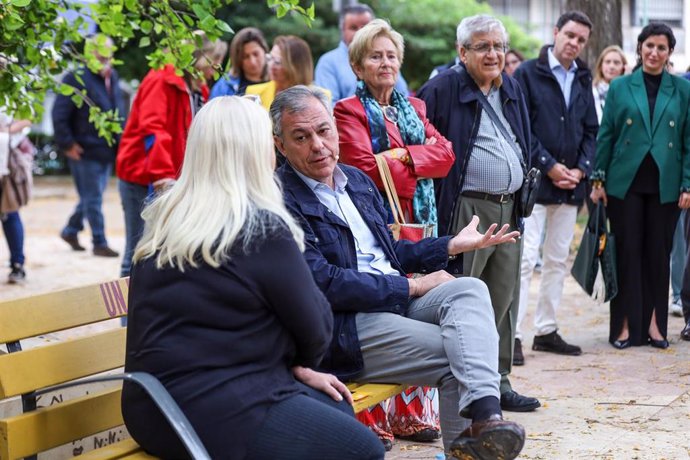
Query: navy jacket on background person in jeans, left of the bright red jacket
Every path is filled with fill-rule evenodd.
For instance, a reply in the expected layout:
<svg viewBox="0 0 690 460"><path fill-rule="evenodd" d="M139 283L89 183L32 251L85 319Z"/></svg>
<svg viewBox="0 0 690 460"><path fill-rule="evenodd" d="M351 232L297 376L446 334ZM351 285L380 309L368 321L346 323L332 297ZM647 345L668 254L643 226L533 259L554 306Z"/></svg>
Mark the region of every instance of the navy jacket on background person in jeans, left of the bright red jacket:
<svg viewBox="0 0 690 460"><path fill-rule="evenodd" d="M120 91L119 77L113 70L110 76L111 94L105 89L105 80L99 74L82 67L80 77L82 85L77 81L73 72L68 73L62 82L79 90L86 91L86 95L102 111L117 109L120 114L120 124L124 124L125 107ZM71 96L58 95L53 106L53 130L55 143L61 150L69 149L75 142L84 149L83 158L109 163L115 160L117 143L120 136L115 136L115 143L109 146L105 139L98 135L98 130L89 121L89 105L84 103L77 107Z"/></svg>

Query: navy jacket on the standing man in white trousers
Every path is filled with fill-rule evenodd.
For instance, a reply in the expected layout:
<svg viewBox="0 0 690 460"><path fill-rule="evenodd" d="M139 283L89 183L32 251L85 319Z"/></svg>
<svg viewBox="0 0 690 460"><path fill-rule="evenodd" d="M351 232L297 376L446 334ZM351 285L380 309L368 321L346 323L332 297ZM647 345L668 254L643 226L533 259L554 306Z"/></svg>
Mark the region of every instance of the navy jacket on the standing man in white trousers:
<svg viewBox="0 0 690 460"><path fill-rule="evenodd" d="M527 100L532 125L532 163L542 172L537 202L541 204L581 205L586 181L574 190L556 187L546 173L558 163L579 168L589 176L594 168L599 123L592 95L592 74L586 64L577 60L577 71L565 105L563 91L549 67L547 50L539 57L523 62L515 71Z"/></svg>

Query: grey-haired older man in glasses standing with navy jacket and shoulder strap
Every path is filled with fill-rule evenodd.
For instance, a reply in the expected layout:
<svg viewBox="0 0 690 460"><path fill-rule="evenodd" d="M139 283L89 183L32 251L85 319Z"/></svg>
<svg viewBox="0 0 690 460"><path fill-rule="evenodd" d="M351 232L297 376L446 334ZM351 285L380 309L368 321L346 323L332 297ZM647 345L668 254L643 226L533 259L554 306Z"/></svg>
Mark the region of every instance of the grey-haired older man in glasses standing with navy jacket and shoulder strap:
<svg viewBox="0 0 690 460"><path fill-rule="evenodd" d="M480 222L521 230L515 194L530 167L530 123L519 85L503 72L507 42L508 33L498 19L488 15L463 19L457 28L461 63L429 80L418 93L426 102L429 121L455 151L450 173L435 184L439 235L457 233L473 214ZM508 378L520 245L479 249L458 259L449 270L452 274L480 278L489 287L499 336L501 408L535 410L539 401L515 392Z"/></svg>

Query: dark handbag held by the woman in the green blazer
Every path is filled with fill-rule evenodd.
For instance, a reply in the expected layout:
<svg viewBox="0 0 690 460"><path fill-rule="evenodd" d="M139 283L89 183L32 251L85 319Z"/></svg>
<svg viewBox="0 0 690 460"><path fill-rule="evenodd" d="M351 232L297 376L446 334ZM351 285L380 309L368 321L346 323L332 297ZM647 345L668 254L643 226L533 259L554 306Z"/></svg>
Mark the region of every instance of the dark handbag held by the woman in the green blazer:
<svg viewBox="0 0 690 460"><path fill-rule="evenodd" d="M616 241L601 201L591 209L570 273L595 300L608 302L618 294Z"/></svg>

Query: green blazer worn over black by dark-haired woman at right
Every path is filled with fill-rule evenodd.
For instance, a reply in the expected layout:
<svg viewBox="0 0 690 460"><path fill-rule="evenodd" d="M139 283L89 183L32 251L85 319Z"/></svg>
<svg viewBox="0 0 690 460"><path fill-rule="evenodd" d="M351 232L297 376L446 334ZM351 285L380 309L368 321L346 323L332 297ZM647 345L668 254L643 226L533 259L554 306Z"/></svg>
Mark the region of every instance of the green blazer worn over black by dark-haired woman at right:
<svg viewBox="0 0 690 460"><path fill-rule="evenodd" d="M668 72L649 119L642 69L611 82L597 136L593 179L606 193L624 199L647 152L659 167L661 203L690 191L690 81Z"/></svg>

